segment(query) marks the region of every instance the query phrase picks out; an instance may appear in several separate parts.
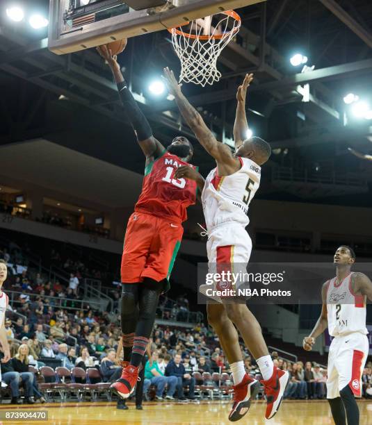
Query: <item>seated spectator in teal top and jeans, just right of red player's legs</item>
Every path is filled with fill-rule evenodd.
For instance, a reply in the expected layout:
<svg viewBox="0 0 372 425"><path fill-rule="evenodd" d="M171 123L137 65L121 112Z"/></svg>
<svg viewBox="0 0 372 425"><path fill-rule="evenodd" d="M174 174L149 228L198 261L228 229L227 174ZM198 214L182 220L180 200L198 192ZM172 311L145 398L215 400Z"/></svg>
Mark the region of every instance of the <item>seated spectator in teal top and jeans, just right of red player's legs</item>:
<svg viewBox="0 0 372 425"><path fill-rule="evenodd" d="M165 385L168 385L167 395L165 399L174 400L175 398L173 397L173 395L175 394L176 390L177 378L175 376L164 376L163 372L161 372L161 370L159 369L158 359L158 353L157 351L154 351L152 353L152 365L150 365L149 360L147 360L146 362L145 383L143 385L143 392L146 394L149 385L155 385L155 398L158 401L162 401Z"/></svg>

